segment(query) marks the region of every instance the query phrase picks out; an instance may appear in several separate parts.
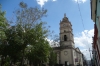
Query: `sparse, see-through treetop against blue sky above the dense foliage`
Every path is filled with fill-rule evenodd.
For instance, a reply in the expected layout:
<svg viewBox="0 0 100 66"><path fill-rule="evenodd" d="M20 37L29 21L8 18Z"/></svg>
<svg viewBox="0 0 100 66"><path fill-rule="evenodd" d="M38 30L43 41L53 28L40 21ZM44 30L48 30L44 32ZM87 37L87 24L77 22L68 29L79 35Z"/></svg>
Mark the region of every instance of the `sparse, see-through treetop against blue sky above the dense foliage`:
<svg viewBox="0 0 100 66"><path fill-rule="evenodd" d="M20 10L16 10L15 14L17 17L17 24L20 24L25 31L30 28L34 28L36 23L41 22L41 18L46 16L47 10L35 7L27 7L27 4L24 2L20 2Z"/></svg>

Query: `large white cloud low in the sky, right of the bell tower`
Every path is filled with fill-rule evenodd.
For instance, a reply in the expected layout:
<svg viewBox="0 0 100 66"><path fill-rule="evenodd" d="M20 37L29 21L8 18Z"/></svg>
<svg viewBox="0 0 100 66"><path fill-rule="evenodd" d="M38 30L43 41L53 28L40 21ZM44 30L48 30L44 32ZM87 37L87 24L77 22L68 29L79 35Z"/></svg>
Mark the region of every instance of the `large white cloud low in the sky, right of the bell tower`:
<svg viewBox="0 0 100 66"><path fill-rule="evenodd" d="M94 35L94 29L92 30L84 30L79 33L80 36L74 37L75 46L79 47L83 54L86 56L87 59L90 59L90 50L92 49L92 37Z"/></svg>

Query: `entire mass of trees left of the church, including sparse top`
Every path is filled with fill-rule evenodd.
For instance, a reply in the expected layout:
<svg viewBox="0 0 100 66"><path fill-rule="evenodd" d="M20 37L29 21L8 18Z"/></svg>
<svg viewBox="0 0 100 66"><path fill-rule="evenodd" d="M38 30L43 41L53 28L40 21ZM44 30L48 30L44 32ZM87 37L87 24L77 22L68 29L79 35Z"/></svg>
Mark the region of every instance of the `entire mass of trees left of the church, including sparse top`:
<svg viewBox="0 0 100 66"><path fill-rule="evenodd" d="M47 10L38 9L37 7L26 7L24 3L20 3L21 9L15 11L16 14L16 25L6 28L4 38L0 42L0 55L6 60L9 56L10 62L16 64L20 62L22 66L23 59L28 59L30 64L42 64L48 61L48 56L50 54L50 45L46 38L49 35L48 28L45 27L44 22L41 18L46 16ZM3 24L5 22L4 12L1 12L3 16L0 20L0 26L5 28L7 25ZM13 21L12 21L13 22ZM54 56L50 55L51 57ZM5 61L4 66L9 64L9 60ZM8 65L9 66L9 65Z"/></svg>

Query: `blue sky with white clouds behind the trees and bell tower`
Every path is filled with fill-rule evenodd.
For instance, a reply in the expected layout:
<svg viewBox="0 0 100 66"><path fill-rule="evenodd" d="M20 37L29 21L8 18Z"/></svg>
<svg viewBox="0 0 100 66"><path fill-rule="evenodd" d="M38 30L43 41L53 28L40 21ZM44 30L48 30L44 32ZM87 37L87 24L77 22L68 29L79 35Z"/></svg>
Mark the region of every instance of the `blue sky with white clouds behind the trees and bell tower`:
<svg viewBox="0 0 100 66"><path fill-rule="evenodd" d="M28 7L47 9L47 17L42 18L42 21L47 22L50 30L57 35L59 35L60 20L66 13L72 24L75 47L79 47L86 58L90 59L89 48L92 50L91 43L94 34L90 0L0 0L7 19L14 19L13 11L19 8L21 1L27 3Z"/></svg>

